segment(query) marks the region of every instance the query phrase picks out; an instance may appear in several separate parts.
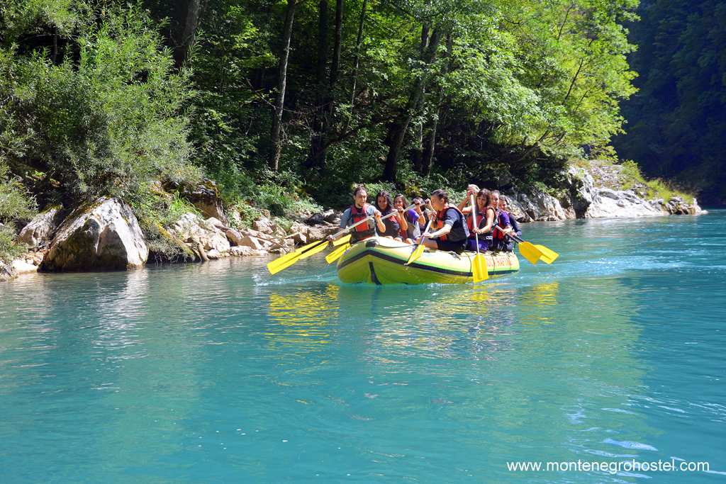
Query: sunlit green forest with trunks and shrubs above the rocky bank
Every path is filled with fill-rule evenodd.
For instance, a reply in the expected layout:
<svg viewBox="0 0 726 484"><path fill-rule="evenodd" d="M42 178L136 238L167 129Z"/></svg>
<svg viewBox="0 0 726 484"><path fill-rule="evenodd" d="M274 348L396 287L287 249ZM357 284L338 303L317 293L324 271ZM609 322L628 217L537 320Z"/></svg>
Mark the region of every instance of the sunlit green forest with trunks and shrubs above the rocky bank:
<svg viewBox="0 0 726 484"><path fill-rule="evenodd" d="M351 184L556 184L613 156L637 0L7 0L0 222L100 194L144 230L204 178L242 213ZM171 199L168 193L174 194ZM177 210L178 211L178 210ZM3 242L0 242L0 244ZM6 244L7 245L7 244Z"/></svg>

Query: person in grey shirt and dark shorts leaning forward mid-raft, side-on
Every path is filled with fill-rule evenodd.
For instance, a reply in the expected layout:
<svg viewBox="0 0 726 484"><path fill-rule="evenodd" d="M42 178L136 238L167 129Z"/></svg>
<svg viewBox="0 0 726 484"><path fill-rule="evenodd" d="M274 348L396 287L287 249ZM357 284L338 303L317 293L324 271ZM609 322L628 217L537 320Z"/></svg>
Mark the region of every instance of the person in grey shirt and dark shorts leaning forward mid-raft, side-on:
<svg viewBox="0 0 726 484"><path fill-rule="evenodd" d="M431 249L449 250L462 253L469 237L464 214L456 205L449 205L449 194L438 189L431 193L431 208L436 210L436 230L425 231L421 235L423 245Z"/></svg>

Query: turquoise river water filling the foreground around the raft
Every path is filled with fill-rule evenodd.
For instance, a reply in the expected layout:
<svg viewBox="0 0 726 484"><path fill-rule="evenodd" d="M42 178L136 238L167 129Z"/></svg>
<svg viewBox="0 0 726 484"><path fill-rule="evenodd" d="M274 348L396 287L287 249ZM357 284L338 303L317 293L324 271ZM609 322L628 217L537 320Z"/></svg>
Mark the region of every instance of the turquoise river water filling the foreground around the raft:
<svg viewBox="0 0 726 484"><path fill-rule="evenodd" d="M476 286L322 255L0 284L0 480L724 482L726 212L523 229L560 259ZM709 468L544 469L659 460Z"/></svg>

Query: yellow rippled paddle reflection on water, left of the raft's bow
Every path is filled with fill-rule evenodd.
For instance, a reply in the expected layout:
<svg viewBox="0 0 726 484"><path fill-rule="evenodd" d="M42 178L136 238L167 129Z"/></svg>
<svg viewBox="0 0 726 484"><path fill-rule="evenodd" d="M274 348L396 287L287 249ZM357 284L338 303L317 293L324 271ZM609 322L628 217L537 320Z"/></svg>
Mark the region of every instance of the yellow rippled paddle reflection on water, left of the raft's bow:
<svg viewBox="0 0 726 484"><path fill-rule="evenodd" d="M291 295L269 295L270 324L265 333L272 347L295 346L320 349L330 343L330 328L338 320L338 291L328 284L325 290L299 291Z"/></svg>

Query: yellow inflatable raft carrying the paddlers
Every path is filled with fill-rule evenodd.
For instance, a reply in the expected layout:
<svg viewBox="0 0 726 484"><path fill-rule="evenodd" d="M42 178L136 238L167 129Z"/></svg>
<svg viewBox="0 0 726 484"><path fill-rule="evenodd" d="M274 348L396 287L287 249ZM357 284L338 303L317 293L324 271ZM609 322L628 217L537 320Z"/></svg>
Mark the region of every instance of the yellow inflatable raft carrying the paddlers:
<svg viewBox="0 0 726 484"><path fill-rule="evenodd" d="M415 246L383 237L371 237L352 245L338 260L342 282L372 284L465 284L472 282L471 261L476 253L455 254L426 249L406 266ZM511 252L484 253L489 275L519 270L519 260Z"/></svg>

